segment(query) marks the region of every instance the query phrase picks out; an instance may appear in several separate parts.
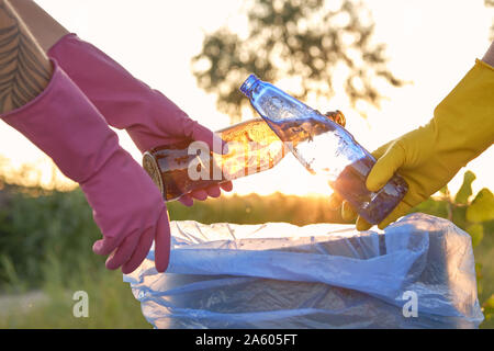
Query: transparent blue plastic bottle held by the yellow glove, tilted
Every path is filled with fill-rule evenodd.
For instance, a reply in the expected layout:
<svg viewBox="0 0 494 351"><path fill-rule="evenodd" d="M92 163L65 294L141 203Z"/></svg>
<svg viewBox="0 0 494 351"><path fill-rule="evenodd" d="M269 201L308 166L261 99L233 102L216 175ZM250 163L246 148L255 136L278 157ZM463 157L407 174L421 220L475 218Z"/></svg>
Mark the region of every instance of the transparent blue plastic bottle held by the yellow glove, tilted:
<svg viewBox="0 0 494 351"><path fill-rule="evenodd" d="M254 75L240 91L295 158L324 177L369 223L382 222L405 195L408 185L397 174L380 191L367 190L375 159L341 125Z"/></svg>

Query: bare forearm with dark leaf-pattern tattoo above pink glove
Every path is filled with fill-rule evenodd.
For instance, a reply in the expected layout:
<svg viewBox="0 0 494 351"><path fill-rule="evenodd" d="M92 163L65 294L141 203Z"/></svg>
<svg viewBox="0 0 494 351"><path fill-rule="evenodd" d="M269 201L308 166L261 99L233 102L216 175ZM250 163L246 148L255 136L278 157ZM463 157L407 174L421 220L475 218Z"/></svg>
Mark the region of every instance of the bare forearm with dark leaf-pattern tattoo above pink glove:
<svg viewBox="0 0 494 351"><path fill-rule="evenodd" d="M0 0L0 112L38 95L52 76L49 61L10 5Z"/></svg>

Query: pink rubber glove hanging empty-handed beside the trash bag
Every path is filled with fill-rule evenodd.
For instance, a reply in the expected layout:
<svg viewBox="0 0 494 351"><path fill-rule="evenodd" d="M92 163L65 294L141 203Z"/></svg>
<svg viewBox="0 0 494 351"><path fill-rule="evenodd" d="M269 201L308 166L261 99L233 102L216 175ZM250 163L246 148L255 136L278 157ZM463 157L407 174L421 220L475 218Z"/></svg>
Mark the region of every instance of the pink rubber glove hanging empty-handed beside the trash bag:
<svg viewBox="0 0 494 351"><path fill-rule="evenodd" d="M161 194L119 145L116 134L54 63L52 80L33 101L1 116L78 182L103 234L93 250L108 269L134 271L155 240L156 269L168 267L170 229Z"/></svg>

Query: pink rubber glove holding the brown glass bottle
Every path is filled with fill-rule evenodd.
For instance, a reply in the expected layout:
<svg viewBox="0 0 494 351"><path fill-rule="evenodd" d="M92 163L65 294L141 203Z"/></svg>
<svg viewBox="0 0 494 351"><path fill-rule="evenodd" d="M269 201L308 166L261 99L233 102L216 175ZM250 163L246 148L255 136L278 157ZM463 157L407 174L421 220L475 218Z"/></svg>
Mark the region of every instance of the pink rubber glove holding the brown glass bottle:
<svg viewBox="0 0 494 351"><path fill-rule="evenodd" d="M142 152L184 139L212 145L213 139L217 138L210 129L189 118L167 97L135 79L112 58L76 34L63 36L48 50L48 56L59 63L110 125L127 131ZM220 186L225 191L232 190L231 182ZM192 197L217 197L220 186L197 190L182 196L180 202L190 206Z"/></svg>

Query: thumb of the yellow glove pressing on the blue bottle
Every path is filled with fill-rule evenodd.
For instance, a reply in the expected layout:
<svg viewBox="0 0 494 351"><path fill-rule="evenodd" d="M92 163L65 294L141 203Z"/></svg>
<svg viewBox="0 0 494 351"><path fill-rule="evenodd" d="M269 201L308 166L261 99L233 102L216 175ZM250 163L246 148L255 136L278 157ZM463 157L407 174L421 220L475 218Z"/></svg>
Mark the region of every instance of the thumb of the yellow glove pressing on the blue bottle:
<svg viewBox="0 0 494 351"><path fill-rule="evenodd" d="M367 189L370 191L380 190L404 162L405 149L400 143L393 143L369 172L366 181Z"/></svg>

